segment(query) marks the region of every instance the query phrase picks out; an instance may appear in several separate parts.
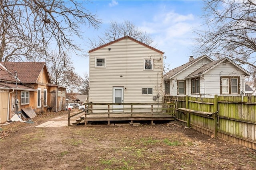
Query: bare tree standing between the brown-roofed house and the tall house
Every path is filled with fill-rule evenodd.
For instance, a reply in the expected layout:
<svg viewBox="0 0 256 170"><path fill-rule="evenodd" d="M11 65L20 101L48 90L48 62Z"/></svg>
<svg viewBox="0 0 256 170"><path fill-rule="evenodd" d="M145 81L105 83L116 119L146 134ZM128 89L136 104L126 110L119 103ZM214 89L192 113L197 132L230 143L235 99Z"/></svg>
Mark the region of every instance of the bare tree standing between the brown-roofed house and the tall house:
<svg viewBox="0 0 256 170"><path fill-rule="evenodd" d="M65 86L67 91L76 92L81 83L81 77L74 72L70 57L52 52L52 58L47 62L50 78L53 84ZM65 58L65 59L63 59Z"/></svg>

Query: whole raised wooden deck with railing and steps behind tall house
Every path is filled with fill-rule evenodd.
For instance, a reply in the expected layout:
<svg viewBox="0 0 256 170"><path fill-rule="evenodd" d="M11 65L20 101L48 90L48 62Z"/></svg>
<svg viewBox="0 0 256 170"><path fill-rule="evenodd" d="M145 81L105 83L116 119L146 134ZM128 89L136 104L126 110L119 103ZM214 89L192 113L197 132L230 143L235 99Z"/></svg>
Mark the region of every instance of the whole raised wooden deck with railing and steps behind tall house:
<svg viewBox="0 0 256 170"><path fill-rule="evenodd" d="M87 103L86 111L81 111L73 115L68 115L68 125L70 117L81 115L72 125L88 121L172 121L175 118L175 103ZM121 106L114 108L114 106ZM120 111L121 110L121 111Z"/></svg>

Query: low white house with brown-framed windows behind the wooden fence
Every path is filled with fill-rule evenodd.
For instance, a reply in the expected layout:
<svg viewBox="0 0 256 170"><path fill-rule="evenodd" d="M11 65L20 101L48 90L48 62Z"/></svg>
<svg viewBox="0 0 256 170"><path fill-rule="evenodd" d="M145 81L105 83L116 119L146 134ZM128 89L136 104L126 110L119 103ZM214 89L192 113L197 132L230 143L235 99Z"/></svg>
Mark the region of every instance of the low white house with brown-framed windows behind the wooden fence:
<svg viewBox="0 0 256 170"><path fill-rule="evenodd" d="M233 96L245 93L244 80L250 73L228 58L213 61L204 55L190 59L184 65L178 67L176 74L172 75L172 72L177 68L164 75L165 86L170 84L169 90L165 88L165 94L213 97L215 94Z"/></svg>

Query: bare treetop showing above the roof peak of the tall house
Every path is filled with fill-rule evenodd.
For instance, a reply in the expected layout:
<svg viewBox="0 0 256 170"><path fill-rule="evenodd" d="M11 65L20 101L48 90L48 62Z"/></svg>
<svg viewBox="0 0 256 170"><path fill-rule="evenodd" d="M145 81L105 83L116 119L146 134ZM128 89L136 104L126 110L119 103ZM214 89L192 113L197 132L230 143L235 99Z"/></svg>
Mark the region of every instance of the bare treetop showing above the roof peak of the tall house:
<svg viewBox="0 0 256 170"><path fill-rule="evenodd" d="M131 21L124 21L122 23L111 21L109 27L104 31L103 36L99 36L98 40L90 39L89 45L93 49L126 35L147 45L151 45L154 42L146 31L140 30Z"/></svg>

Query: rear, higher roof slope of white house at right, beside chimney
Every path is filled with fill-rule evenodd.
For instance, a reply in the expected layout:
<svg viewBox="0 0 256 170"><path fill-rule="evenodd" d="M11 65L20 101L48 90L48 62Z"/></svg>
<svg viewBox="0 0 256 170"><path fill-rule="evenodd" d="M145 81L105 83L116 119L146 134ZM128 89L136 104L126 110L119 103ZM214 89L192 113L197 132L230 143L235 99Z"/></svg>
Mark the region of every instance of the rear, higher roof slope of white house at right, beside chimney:
<svg viewBox="0 0 256 170"><path fill-rule="evenodd" d="M207 58L209 59L210 61L214 61L213 59L211 59L210 57L208 57L207 55L203 55L201 57L198 57L188 63L185 63L181 66L178 66L172 70L170 70L169 72L167 72L166 74L164 74L164 79L167 79L167 78L172 78L174 76L176 76L177 74L179 74L180 72L182 72L183 70L186 70L188 67L192 66L194 63L197 63L198 61L204 59L204 58Z"/></svg>

